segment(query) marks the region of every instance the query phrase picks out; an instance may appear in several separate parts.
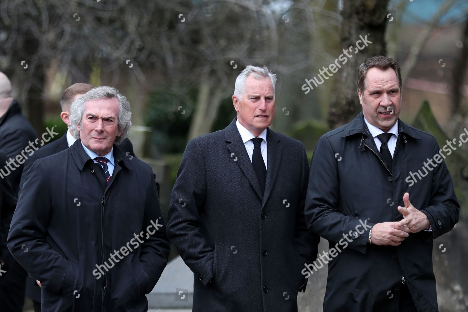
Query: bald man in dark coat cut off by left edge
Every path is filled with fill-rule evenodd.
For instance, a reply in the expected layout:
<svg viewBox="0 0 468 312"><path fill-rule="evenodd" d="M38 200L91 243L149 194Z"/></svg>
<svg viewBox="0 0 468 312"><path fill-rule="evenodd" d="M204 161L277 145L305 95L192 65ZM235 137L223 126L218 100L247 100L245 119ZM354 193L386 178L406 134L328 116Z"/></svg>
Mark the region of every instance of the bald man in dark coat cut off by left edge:
<svg viewBox="0 0 468 312"><path fill-rule="evenodd" d="M6 179L18 195L23 163L28 153L39 146L36 131L21 113L18 101L12 97L10 80L0 72L0 148L6 154L6 161L0 163L0 179ZM0 244L0 261L4 263L0 283L0 302L2 312L22 311L27 273L8 251L7 234L14 210L3 213L0 232L4 241Z"/></svg>

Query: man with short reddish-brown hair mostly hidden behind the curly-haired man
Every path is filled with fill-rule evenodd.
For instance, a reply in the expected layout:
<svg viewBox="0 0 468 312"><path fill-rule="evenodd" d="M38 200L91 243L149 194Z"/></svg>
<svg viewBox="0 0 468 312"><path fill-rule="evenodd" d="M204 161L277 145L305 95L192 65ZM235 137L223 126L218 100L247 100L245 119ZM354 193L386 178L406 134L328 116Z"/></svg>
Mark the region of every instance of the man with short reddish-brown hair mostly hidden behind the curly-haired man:
<svg viewBox="0 0 468 312"><path fill-rule="evenodd" d="M81 95L87 93L92 88L94 88L93 85L79 82L71 85L70 87L67 87L66 90L63 92L62 98L60 99L60 106L62 108L60 118L62 118L62 121L66 123L67 126L70 126L70 106L76 99L78 99ZM24 162L24 170L21 177L20 190L22 189L26 174L35 160L66 150L68 147L72 146L73 143L75 143L75 141L76 138L73 137L73 131L68 130L61 138L45 145L44 147L35 151L34 154L29 156L29 158ZM133 145L128 138L125 138L119 147L127 154L131 155L132 157L135 157L135 154L133 153ZM34 311L40 312L40 284L31 276L28 276L26 278L26 296L28 296L33 301Z"/></svg>

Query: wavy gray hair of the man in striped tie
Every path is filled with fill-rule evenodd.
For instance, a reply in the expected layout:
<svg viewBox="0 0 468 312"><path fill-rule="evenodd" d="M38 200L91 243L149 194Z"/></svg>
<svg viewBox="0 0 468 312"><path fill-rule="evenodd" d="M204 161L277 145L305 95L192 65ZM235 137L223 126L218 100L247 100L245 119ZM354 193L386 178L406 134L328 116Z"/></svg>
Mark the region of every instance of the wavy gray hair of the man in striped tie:
<svg viewBox="0 0 468 312"><path fill-rule="evenodd" d="M117 99L118 101L119 110L117 116L117 131L122 131L122 134L120 137L116 138L115 143L120 144L128 136L128 132L132 126L132 111L130 110L130 103L127 98L114 87L95 87L81 95L72 103L70 106L70 129L73 131L73 137L76 139L80 138L80 132L78 131L77 126L79 125L81 128L81 121L83 120L83 114L85 111L85 103L100 99Z"/></svg>

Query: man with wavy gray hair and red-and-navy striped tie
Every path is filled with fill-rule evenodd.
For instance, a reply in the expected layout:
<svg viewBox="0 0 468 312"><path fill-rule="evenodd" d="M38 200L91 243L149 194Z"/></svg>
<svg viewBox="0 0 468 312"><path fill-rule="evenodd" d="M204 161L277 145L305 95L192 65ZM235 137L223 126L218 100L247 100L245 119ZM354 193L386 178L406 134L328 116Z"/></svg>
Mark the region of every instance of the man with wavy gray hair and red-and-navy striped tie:
<svg viewBox="0 0 468 312"><path fill-rule="evenodd" d="M130 103L96 87L70 111L77 141L29 169L8 248L42 284L43 312L146 312L169 243L151 167L116 145Z"/></svg>

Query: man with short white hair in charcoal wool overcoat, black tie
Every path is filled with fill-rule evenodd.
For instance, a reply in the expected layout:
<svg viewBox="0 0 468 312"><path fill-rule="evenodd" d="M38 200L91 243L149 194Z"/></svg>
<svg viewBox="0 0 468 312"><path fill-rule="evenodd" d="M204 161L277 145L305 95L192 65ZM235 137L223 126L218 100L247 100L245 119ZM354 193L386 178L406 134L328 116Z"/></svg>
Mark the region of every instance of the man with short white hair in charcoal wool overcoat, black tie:
<svg viewBox="0 0 468 312"><path fill-rule="evenodd" d="M193 311L297 311L320 238L307 231L309 164L300 141L271 131L276 75L247 66L237 117L189 142L168 211L168 237L194 272Z"/></svg>

